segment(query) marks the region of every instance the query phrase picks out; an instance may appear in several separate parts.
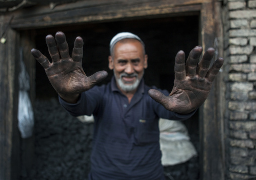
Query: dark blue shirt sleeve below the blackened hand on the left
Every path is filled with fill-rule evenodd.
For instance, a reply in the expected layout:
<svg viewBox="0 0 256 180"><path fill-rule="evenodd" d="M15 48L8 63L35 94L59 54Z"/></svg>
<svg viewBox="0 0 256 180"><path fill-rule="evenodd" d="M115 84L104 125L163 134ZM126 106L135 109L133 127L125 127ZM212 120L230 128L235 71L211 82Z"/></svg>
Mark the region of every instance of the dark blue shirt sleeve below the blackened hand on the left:
<svg viewBox="0 0 256 180"><path fill-rule="evenodd" d="M81 93L77 103L68 103L58 97L60 104L73 116L92 115L99 108L102 98L102 88L94 86L92 89Z"/></svg>

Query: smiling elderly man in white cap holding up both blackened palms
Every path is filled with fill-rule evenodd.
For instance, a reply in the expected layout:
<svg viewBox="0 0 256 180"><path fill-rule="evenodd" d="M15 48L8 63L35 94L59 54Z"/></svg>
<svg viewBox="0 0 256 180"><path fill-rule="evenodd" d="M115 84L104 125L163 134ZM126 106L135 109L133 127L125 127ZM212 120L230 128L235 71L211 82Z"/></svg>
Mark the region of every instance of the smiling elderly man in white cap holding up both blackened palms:
<svg viewBox="0 0 256 180"><path fill-rule="evenodd" d="M76 38L72 57L62 32L56 33L55 40L46 37L52 63L38 50L31 53L45 69L61 105L74 116L93 114L95 118L89 179L163 180L159 117L183 120L193 115L207 98L223 59L218 58L208 70L213 48L199 63L202 47L195 47L186 63L184 52L179 51L169 94L144 84L148 66L144 43L132 33L120 33L110 42L108 61L114 77L99 87L94 85L107 73L86 76L82 38Z"/></svg>

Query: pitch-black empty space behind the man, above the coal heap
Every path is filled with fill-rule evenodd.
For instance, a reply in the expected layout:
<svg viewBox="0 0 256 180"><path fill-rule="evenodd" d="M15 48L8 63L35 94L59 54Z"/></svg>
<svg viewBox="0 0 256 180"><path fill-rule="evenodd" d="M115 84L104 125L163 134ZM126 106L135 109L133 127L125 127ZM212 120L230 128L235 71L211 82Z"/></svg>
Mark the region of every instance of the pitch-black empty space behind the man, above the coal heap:
<svg viewBox="0 0 256 180"><path fill-rule="evenodd" d="M149 56L149 66L144 75L146 84L171 91L176 53L183 50L187 56L192 48L199 45L198 20L198 16L189 16L40 29L37 31L36 48L49 58L45 37L48 34L54 36L57 31L62 31L66 34L70 53L72 53L75 38L81 36L84 40L85 73L90 76L97 71L106 70L109 76L102 83L107 83L112 76L107 61L109 42L119 32L131 32L137 34L146 45L146 53ZM37 98L55 97L44 70L38 63L36 79L40 79L36 81Z"/></svg>

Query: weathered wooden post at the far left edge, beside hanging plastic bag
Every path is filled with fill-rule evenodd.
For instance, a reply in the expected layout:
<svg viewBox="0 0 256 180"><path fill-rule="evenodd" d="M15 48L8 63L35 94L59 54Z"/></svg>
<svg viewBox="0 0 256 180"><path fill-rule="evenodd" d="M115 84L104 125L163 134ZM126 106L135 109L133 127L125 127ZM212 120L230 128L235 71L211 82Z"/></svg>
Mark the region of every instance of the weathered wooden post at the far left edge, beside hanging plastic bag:
<svg viewBox="0 0 256 180"><path fill-rule="evenodd" d="M9 16L0 17L0 180L19 179L20 134L18 131L18 33L10 28ZM7 30L7 31L6 31ZM6 31L6 32L5 32Z"/></svg>

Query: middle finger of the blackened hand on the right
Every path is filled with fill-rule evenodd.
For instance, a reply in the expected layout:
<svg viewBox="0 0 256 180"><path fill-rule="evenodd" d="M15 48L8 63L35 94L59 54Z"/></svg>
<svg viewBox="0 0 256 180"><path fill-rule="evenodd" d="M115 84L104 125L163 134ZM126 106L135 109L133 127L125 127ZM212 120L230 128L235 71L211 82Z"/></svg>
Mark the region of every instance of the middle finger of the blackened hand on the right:
<svg viewBox="0 0 256 180"><path fill-rule="evenodd" d="M201 46L195 47L190 51L189 56L186 60L186 75L187 76L195 76L197 73L197 65L199 58L202 54L203 48Z"/></svg>

